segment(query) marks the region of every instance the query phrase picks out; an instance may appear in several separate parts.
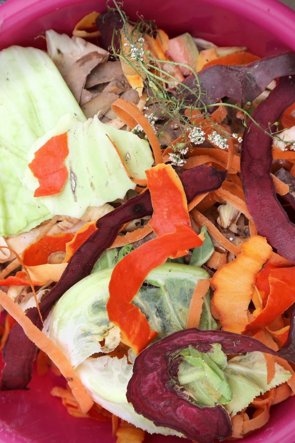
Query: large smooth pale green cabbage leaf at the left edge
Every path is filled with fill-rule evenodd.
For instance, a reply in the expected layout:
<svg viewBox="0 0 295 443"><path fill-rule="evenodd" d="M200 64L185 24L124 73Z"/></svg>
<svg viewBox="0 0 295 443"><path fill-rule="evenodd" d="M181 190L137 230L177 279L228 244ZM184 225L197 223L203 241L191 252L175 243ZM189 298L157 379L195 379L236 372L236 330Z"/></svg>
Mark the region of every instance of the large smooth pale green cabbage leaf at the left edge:
<svg viewBox="0 0 295 443"><path fill-rule="evenodd" d="M0 51L0 66L0 235L6 237L51 218L21 183L31 145L65 113L86 118L45 52L11 46Z"/></svg>

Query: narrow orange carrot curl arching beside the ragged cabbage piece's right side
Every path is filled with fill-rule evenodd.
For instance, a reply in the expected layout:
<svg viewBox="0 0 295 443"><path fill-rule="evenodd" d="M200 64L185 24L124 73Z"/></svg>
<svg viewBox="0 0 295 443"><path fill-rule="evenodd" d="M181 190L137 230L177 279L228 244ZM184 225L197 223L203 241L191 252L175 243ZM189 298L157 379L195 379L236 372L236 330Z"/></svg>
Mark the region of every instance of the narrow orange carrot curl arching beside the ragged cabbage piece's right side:
<svg viewBox="0 0 295 443"><path fill-rule="evenodd" d="M149 140L149 143L153 150L153 155L155 158L155 163L163 163L162 152L159 141L156 134L153 131L153 127L149 123L149 120L144 117L140 110L123 98L118 98L111 105L111 109L115 114L122 120L129 128L133 129L137 124L139 124Z"/></svg>

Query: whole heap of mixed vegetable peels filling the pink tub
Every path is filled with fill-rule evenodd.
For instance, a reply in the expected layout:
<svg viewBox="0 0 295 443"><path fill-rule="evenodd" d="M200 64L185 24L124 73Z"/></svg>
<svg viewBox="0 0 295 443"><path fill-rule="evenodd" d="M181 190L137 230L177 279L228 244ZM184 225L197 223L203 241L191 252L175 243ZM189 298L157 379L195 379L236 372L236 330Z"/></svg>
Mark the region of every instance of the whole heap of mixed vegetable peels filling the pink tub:
<svg viewBox="0 0 295 443"><path fill-rule="evenodd" d="M0 389L37 358L117 443L241 439L295 393L295 54L111 3L0 51Z"/></svg>

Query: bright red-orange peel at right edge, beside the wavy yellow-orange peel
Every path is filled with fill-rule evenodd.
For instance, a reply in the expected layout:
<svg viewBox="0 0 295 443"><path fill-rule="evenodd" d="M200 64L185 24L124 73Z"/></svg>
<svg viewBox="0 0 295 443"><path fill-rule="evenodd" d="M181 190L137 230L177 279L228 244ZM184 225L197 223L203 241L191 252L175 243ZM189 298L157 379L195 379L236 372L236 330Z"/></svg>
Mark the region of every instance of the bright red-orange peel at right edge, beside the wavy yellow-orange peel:
<svg viewBox="0 0 295 443"><path fill-rule="evenodd" d="M271 325L295 302L295 267L272 268L268 280L270 292L266 305L261 313L245 326L243 334L251 336L257 334Z"/></svg>

